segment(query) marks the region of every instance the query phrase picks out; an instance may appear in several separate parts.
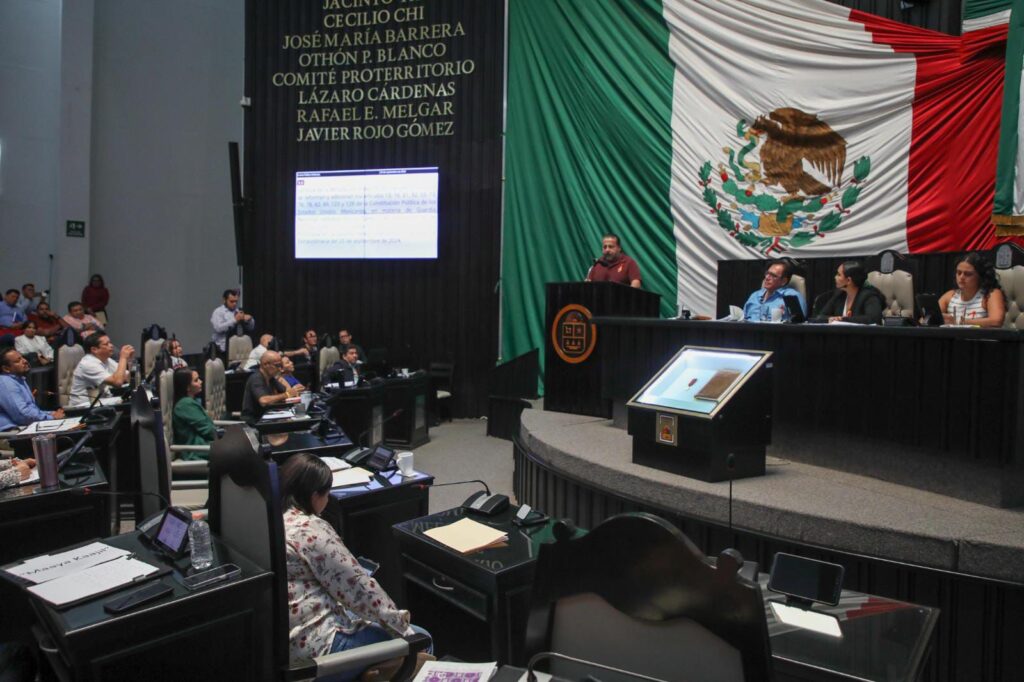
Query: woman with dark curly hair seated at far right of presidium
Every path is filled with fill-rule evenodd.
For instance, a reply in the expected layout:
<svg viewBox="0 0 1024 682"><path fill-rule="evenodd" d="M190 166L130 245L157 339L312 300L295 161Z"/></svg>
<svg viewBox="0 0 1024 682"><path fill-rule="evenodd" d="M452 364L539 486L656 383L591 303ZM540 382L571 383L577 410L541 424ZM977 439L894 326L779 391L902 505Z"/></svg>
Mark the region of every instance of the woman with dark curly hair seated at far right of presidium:
<svg viewBox="0 0 1024 682"><path fill-rule="evenodd" d="M978 253L969 253L956 263L956 289L939 299L947 325L1002 327L1007 299L995 276L995 268Z"/></svg>

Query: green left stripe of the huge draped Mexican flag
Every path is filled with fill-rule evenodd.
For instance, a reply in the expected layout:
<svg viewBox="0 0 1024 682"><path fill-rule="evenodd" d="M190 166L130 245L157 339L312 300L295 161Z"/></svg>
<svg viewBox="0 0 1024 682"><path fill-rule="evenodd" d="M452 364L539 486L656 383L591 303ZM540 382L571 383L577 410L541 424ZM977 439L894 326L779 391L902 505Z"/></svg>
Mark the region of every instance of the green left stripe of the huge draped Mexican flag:
<svg viewBox="0 0 1024 682"><path fill-rule="evenodd" d="M668 43L659 1L509 0L504 359L543 349L545 283L582 280L607 231L673 314Z"/></svg>

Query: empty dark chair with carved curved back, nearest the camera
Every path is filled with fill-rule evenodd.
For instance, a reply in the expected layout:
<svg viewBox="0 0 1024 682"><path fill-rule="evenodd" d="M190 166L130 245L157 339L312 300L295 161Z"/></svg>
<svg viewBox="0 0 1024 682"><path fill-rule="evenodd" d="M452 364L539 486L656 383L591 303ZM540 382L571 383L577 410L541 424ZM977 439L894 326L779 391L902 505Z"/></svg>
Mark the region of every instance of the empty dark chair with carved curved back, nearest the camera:
<svg viewBox="0 0 1024 682"><path fill-rule="evenodd" d="M613 516L556 542L537 562L525 655L556 652L660 680L766 682L768 625L760 588L737 574L725 550L717 567L678 528L651 514ZM564 679L621 674L551 662Z"/></svg>

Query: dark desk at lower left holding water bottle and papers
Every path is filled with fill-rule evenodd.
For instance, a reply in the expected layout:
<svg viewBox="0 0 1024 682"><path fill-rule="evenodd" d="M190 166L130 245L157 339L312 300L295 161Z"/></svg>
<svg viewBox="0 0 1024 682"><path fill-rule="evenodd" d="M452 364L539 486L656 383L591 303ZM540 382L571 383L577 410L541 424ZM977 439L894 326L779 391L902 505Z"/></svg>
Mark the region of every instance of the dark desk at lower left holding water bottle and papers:
<svg viewBox="0 0 1024 682"><path fill-rule="evenodd" d="M135 532L108 538L147 560L152 550ZM242 576L197 592L180 580L188 559L158 579L173 594L126 613L111 615L97 597L56 610L30 597L37 622L51 640L43 649L61 679L69 680L268 680L271 670L272 573L214 540L216 562L236 563Z"/></svg>

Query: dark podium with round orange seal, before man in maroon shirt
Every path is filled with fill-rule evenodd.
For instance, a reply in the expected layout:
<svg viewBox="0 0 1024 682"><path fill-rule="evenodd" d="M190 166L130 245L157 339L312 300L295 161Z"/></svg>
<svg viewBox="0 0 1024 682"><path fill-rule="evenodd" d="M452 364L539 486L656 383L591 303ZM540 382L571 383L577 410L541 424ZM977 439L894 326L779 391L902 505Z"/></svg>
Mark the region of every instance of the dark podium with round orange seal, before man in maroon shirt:
<svg viewBox="0 0 1024 682"><path fill-rule="evenodd" d="M556 282L547 285L546 298L544 409L611 417L611 401L601 397L592 318L657 317L662 296L609 282Z"/></svg>

